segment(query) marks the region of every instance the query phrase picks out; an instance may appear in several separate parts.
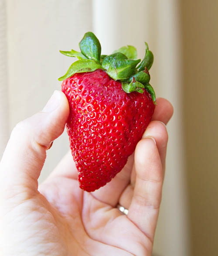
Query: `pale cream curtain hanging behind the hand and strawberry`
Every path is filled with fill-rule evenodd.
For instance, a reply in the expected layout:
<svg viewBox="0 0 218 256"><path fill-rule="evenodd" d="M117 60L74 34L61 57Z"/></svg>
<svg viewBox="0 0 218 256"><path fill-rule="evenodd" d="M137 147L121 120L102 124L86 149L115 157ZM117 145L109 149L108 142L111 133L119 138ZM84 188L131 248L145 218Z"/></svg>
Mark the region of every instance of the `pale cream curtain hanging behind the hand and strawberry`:
<svg viewBox="0 0 218 256"><path fill-rule="evenodd" d="M151 83L157 96L174 105L154 255L188 256L179 0L0 0L0 154L14 125L60 89L57 79L72 59L59 50L78 50L86 31L97 35L105 54L132 44L142 58L144 41L154 53ZM40 181L67 150L64 133L48 150Z"/></svg>

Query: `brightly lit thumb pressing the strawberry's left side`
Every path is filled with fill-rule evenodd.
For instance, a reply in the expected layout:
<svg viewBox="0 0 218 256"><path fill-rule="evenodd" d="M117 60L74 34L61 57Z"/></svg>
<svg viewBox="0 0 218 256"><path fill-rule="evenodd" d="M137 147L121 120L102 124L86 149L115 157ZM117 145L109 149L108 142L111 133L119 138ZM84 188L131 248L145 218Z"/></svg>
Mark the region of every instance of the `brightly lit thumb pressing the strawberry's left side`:
<svg viewBox="0 0 218 256"><path fill-rule="evenodd" d="M15 126L0 162L1 192L37 191L46 150L63 133L68 115L64 93L54 91L41 112Z"/></svg>

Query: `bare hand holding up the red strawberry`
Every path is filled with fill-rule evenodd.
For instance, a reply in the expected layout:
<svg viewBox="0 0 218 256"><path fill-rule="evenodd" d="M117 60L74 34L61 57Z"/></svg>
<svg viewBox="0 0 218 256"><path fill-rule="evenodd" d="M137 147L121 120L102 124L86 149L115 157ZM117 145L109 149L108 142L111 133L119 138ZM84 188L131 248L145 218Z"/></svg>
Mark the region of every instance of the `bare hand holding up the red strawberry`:
<svg viewBox="0 0 218 256"><path fill-rule="evenodd" d="M170 102L157 99L153 120L124 169L92 193L79 188L70 152L38 186L46 150L64 131L68 114L65 95L55 91L41 112L11 133L0 162L0 255L151 255ZM127 216L118 203L129 208Z"/></svg>

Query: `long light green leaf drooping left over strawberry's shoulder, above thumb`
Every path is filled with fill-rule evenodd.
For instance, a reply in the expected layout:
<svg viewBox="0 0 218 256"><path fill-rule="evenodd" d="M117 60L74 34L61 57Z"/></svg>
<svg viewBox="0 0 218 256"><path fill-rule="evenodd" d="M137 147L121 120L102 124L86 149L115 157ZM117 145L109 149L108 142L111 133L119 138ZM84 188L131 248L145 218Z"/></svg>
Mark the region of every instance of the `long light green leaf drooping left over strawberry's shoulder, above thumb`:
<svg viewBox="0 0 218 256"><path fill-rule="evenodd" d="M78 60L75 61L68 69L67 73L60 78L59 81L63 81L75 73L92 72L96 69L102 69L102 66L93 60Z"/></svg>

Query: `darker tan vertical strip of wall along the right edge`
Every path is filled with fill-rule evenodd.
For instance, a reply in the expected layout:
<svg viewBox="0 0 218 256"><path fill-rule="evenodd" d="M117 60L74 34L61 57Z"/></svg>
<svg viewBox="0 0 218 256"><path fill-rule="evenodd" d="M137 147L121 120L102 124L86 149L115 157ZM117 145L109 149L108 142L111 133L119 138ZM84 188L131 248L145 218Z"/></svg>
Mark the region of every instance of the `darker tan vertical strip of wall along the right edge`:
<svg viewBox="0 0 218 256"><path fill-rule="evenodd" d="M193 256L218 255L218 1L181 0L183 106Z"/></svg>

